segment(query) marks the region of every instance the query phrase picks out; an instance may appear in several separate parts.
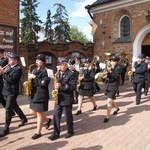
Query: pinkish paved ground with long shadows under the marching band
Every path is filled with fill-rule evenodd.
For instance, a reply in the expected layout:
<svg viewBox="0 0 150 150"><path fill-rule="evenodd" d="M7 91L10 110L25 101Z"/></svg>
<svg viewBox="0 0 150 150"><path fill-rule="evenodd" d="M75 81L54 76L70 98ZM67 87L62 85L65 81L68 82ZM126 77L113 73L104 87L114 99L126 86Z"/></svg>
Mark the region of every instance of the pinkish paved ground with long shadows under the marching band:
<svg viewBox="0 0 150 150"><path fill-rule="evenodd" d="M19 96L18 103L28 118L28 123L18 128L20 119L13 117L10 134L0 138L0 150L150 150L150 93L142 95L141 104L135 105L135 94L131 82L126 81L120 87L117 104L120 111L111 115L108 123L103 123L106 115L106 96L103 86L95 95L98 109L85 97L82 114L74 115L75 136L65 139L66 124L64 115L61 120L60 139L50 141L47 137L53 132L53 123L49 130L42 129L42 137L32 140L36 131L36 118L29 113L29 101L26 96ZM54 101L49 102L46 113L52 118ZM73 105L73 114L77 104ZM112 109L113 113L114 109ZM4 126L4 108L0 107L0 130Z"/></svg>

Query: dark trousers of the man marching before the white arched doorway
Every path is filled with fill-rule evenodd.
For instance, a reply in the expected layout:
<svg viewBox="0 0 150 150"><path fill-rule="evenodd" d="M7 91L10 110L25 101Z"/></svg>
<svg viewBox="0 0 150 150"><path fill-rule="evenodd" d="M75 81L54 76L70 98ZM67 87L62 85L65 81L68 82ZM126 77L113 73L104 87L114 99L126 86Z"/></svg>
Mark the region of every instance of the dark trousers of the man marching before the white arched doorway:
<svg viewBox="0 0 150 150"><path fill-rule="evenodd" d="M141 102L142 88L144 83L133 83L133 89L136 93L136 102Z"/></svg>

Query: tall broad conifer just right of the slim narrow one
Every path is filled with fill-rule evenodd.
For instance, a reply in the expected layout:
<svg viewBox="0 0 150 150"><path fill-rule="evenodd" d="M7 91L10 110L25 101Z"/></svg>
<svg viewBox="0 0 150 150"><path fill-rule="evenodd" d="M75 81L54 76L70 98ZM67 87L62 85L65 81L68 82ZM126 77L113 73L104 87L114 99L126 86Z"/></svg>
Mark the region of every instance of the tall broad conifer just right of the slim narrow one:
<svg viewBox="0 0 150 150"><path fill-rule="evenodd" d="M56 14L52 17L54 19L54 38L57 43L66 43L70 41L67 11L60 3L56 3L54 6L57 6Z"/></svg>

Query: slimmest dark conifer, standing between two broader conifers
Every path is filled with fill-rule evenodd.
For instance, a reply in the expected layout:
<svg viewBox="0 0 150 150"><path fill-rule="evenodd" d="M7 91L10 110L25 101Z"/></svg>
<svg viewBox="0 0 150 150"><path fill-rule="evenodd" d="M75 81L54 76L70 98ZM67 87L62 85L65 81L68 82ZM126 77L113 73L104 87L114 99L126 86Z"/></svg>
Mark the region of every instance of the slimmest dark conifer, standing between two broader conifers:
<svg viewBox="0 0 150 150"><path fill-rule="evenodd" d="M50 43L53 43L53 29L52 29L52 21L51 21L51 11L47 11L47 18L45 22L45 37Z"/></svg>

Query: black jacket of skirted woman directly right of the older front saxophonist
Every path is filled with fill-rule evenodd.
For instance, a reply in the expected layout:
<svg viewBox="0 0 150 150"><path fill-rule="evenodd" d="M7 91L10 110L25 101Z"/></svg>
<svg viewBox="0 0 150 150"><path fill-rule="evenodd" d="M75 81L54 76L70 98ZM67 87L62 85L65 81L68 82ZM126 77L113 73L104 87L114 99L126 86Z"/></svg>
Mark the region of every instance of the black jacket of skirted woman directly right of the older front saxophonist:
<svg viewBox="0 0 150 150"><path fill-rule="evenodd" d="M82 90L93 90L94 88L94 77L95 69L84 69L83 70L84 79L81 81L80 89Z"/></svg>

